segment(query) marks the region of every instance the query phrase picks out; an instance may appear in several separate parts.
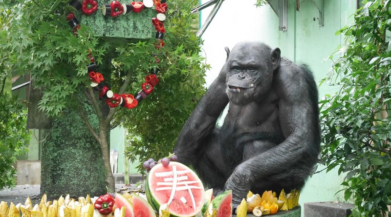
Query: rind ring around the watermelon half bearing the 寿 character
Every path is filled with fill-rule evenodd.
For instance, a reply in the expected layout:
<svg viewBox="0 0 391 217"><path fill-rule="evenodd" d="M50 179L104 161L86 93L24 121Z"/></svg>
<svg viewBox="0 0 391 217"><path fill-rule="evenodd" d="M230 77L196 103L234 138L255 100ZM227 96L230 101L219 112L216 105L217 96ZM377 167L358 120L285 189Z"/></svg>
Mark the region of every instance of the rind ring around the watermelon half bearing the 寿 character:
<svg viewBox="0 0 391 217"><path fill-rule="evenodd" d="M180 166L180 167L184 167L184 168L187 168L190 173L192 173L192 175L199 180L199 183L201 184L202 186L202 182L200 181L200 179L197 177L197 175L194 173L194 171L192 171L190 168L188 168L187 166L179 163L179 162L170 162L170 165L171 164L174 164L174 165L177 165L177 166ZM155 197L153 197L153 192L151 191L151 188L150 188L150 181L152 180L152 177L151 177L151 174L153 174L154 170L157 170L156 168L158 168L159 166L162 166L161 163L155 165L151 171L149 172L148 176L147 176L147 179L145 181L145 194L146 194L146 197L147 197L147 200L148 202L151 204L152 208L156 211L156 212L159 212L159 208L160 208L160 205L162 204L159 204L159 202L155 199ZM205 193L204 193L204 190L203 190L203 187L202 187L202 194L200 195L200 197L204 198L205 197ZM173 213L173 212L170 212L170 216L171 217L195 217L197 214L199 214L201 212L201 209L202 209L202 205L197 207L198 209L194 212L192 212L191 214L189 215L178 215L176 213Z"/></svg>

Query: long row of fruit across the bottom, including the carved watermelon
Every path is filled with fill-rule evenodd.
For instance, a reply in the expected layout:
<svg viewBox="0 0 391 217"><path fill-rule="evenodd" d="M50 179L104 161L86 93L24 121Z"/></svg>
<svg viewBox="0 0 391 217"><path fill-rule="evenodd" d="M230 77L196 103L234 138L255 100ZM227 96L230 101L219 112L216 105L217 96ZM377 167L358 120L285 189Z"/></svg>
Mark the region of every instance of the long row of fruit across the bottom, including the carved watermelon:
<svg viewBox="0 0 391 217"><path fill-rule="evenodd" d="M174 157L174 158L173 158ZM60 197L48 201L45 194L40 204L0 203L0 217L231 217L232 191L217 197L213 189L204 190L201 180L187 166L175 162L176 156L145 162L149 174L145 181L145 195L141 193L106 194L100 197ZM148 165L147 165L148 164ZM256 217L275 214L298 205L300 191L280 197L265 191L262 197L249 192L237 209L238 217L253 213Z"/></svg>

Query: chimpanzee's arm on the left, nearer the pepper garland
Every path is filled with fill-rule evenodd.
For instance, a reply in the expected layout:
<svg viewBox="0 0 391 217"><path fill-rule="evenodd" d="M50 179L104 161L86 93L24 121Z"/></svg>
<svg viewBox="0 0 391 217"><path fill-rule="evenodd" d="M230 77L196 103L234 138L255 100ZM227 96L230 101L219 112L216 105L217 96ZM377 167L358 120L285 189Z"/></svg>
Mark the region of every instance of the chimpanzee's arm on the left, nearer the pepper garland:
<svg viewBox="0 0 391 217"><path fill-rule="evenodd" d="M196 154L203 140L213 133L218 116L228 104L226 90L226 67L223 66L217 79L198 102L193 113L179 134L174 153L185 164L196 162Z"/></svg>

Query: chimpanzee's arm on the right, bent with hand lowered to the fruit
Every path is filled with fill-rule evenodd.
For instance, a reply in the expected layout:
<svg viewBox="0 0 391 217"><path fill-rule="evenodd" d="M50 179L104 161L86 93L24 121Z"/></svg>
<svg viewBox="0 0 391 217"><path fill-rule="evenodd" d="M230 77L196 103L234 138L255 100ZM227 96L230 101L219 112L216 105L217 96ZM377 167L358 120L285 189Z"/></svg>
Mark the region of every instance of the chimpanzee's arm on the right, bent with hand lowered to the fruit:
<svg viewBox="0 0 391 217"><path fill-rule="evenodd" d="M299 160L312 166L319 154L317 87L312 76L293 63L282 64L277 73L274 85L279 88L279 119L286 139L235 168L224 187L233 190L234 206L246 197L256 180L289 171ZM303 176L307 177L309 174L305 173Z"/></svg>

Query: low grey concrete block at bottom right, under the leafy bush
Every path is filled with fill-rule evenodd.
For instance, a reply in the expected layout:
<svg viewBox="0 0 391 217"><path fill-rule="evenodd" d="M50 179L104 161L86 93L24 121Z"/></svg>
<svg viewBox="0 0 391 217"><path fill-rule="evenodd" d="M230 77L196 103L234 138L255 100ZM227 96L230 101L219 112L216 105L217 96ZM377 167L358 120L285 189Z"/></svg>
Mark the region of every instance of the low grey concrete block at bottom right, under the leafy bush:
<svg viewBox="0 0 391 217"><path fill-rule="evenodd" d="M339 201L304 203L304 217L348 217L353 208Z"/></svg>

